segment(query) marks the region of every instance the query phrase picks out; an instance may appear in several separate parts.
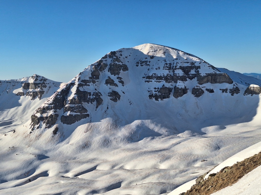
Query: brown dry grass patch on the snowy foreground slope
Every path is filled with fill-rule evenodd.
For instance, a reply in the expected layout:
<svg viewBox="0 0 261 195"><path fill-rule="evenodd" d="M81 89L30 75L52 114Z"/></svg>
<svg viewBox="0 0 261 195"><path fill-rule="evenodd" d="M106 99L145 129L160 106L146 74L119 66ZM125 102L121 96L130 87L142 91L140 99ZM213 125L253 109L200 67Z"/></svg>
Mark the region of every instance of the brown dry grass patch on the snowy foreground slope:
<svg viewBox="0 0 261 195"><path fill-rule="evenodd" d="M196 184L180 195L209 195L236 183L240 178L261 165L261 152L252 157L237 162L233 166L224 167L217 173L212 173L204 180L207 173L196 180ZM261 194L260 194L261 195Z"/></svg>

